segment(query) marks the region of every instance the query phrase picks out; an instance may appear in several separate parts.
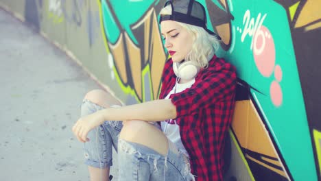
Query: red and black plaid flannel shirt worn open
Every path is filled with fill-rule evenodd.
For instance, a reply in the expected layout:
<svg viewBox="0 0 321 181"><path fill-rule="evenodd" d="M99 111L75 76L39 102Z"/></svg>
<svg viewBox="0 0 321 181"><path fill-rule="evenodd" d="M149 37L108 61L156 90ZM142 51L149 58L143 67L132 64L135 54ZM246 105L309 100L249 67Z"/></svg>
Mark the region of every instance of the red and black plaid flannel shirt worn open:
<svg viewBox="0 0 321 181"><path fill-rule="evenodd" d="M176 82L172 64L171 59L165 63L160 99ZM176 123L196 180L223 180L224 138L235 106L236 78L232 64L213 56L191 88L169 97L176 106Z"/></svg>

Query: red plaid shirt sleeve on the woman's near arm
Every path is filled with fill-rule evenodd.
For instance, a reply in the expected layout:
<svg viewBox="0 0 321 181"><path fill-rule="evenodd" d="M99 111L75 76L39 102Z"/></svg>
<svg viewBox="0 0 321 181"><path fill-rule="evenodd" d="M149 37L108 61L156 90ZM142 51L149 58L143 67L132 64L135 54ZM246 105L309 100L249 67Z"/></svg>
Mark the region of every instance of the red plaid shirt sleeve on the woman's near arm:
<svg viewBox="0 0 321 181"><path fill-rule="evenodd" d="M204 69L207 71L201 80L195 81L191 88L181 93L171 95L171 102L176 106L177 117L198 112L233 95L236 73L232 64L222 64L220 67Z"/></svg>

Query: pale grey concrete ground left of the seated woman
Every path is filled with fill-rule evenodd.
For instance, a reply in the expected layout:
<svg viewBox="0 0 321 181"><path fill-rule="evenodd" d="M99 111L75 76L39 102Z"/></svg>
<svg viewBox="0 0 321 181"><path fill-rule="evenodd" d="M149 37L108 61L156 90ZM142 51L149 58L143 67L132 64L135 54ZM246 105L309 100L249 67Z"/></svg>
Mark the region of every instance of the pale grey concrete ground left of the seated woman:
<svg viewBox="0 0 321 181"><path fill-rule="evenodd" d="M0 180L89 180L71 127L82 98L99 85L1 9L0 87Z"/></svg>

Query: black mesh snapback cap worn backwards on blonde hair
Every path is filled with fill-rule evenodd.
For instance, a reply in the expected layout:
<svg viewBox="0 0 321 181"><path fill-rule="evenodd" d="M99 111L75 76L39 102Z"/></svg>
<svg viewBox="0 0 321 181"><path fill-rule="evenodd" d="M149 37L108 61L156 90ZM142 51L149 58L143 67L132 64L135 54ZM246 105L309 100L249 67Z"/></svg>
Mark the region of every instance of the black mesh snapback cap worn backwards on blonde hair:
<svg viewBox="0 0 321 181"><path fill-rule="evenodd" d="M160 16L159 23L166 20L178 21L202 27L211 35L221 40L217 34L206 27L206 12L204 6L194 0L169 0L164 7L171 5L171 15Z"/></svg>

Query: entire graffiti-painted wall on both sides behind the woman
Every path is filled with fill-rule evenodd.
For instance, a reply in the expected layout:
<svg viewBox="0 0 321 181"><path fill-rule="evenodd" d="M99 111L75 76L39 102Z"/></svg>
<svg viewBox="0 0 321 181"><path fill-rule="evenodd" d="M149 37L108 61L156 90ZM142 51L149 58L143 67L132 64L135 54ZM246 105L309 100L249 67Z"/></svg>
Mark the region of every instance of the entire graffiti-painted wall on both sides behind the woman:
<svg viewBox="0 0 321 181"><path fill-rule="evenodd" d="M0 0L125 104L157 99L165 1ZM237 67L225 180L321 180L321 1L200 0Z"/></svg>

